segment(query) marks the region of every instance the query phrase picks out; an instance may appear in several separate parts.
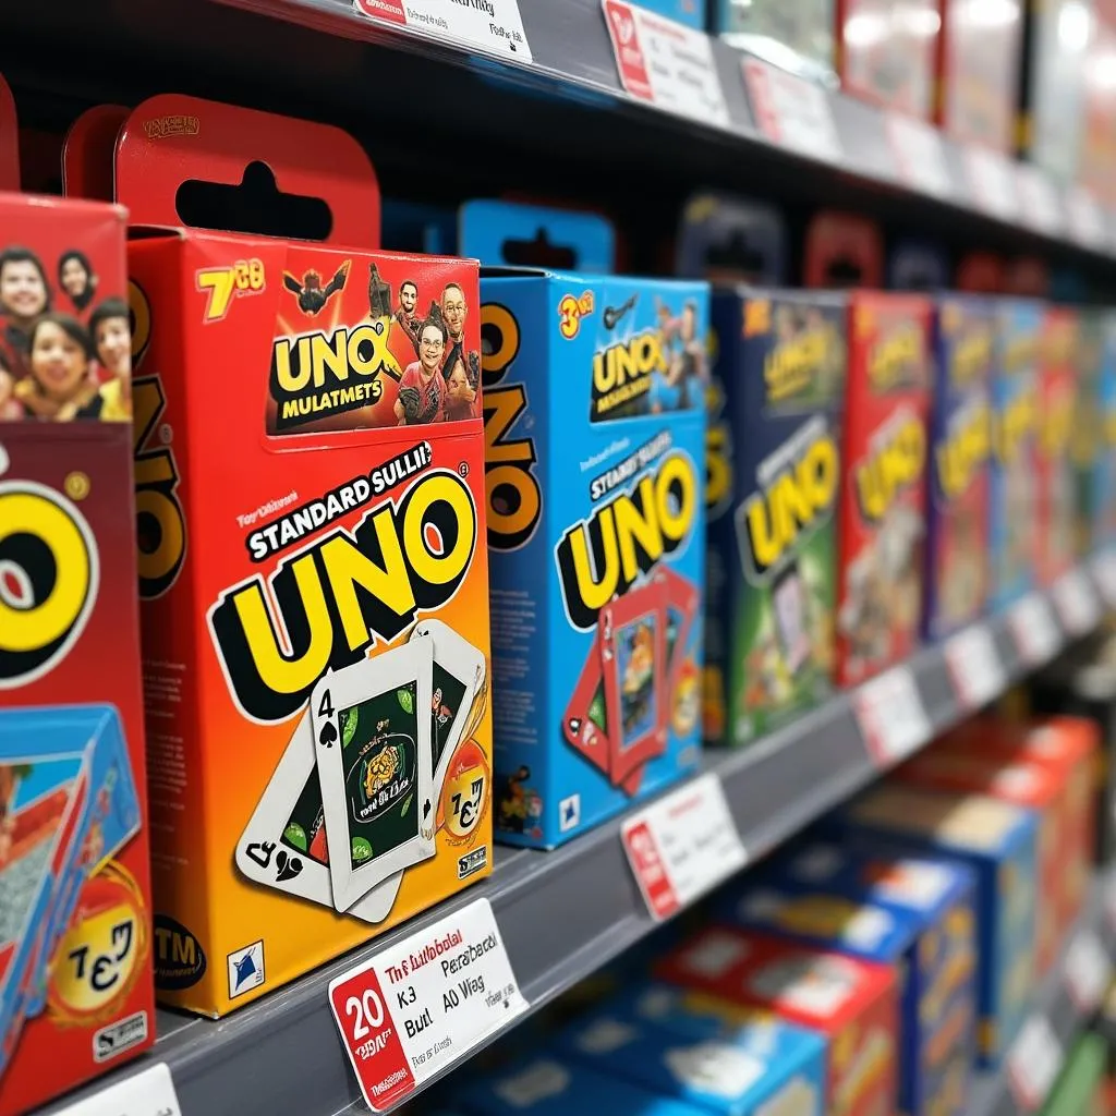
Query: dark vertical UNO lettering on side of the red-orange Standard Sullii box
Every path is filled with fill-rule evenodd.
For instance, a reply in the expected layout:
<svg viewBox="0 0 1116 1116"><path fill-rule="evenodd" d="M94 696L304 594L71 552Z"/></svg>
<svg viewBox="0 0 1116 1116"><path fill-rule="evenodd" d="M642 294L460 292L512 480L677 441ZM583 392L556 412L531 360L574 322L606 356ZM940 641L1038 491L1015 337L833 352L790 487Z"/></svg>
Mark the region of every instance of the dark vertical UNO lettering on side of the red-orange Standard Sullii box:
<svg viewBox="0 0 1116 1116"><path fill-rule="evenodd" d="M151 339L151 304L136 282L128 283L128 298L132 358L138 365ZM140 596L152 600L177 580L186 557L186 525L179 502L174 451L169 445L154 444L153 435L166 410L166 396L157 375L141 376L133 382L132 407Z"/></svg>

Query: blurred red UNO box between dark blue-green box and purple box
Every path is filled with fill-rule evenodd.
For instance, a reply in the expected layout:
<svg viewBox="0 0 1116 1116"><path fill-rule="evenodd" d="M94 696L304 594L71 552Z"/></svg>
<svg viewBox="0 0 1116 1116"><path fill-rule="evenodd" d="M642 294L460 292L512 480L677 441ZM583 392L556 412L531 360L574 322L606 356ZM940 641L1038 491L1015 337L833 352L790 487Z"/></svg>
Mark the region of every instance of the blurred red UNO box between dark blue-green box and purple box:
<svg viewBox="0 0 1116 1116"><path fill-rule="evenodd" d="M838 502L837 679L852 686L918 641L926 541L931 302L849 295Z"/></svg>

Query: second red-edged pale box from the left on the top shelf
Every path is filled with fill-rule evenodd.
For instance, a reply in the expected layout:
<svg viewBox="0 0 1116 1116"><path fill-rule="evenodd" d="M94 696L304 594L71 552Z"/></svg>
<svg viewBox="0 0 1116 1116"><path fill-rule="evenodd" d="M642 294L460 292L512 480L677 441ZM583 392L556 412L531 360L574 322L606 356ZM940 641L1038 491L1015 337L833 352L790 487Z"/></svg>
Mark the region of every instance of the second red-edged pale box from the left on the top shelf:
<svg viewBox="0 0 1116 1116"><path fill-rule="evenodd" d="M942 0L935 123L954 140L1016 150L1022 0Z"/></svg>

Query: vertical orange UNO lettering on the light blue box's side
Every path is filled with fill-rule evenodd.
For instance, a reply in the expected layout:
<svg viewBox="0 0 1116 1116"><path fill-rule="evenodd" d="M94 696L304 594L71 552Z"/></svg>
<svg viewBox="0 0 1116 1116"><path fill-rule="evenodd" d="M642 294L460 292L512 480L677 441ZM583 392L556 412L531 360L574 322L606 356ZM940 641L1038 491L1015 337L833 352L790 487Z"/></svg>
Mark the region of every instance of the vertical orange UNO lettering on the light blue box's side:
<svg viewBox="0 0 1116 1116"><path fill-rule="evenodd" d="M535 440L509 436L528 407L523 384L500 383L519 356L519 323L511 310L485 302L481 339L488 540L494 550L518 550L539 526L542 493L535 470Z"/></svg>

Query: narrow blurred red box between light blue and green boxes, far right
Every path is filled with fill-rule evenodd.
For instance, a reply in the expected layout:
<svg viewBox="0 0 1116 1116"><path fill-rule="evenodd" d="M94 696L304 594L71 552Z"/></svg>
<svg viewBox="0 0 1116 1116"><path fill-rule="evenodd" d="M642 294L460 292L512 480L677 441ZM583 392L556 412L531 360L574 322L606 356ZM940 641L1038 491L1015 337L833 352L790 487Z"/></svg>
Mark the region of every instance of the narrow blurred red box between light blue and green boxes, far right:
<svg viewBox="0 0 1116 1116"><path fill-rule="evenodd" d="M1038 581L1051 585L1077 557L1077 496L1070 444L1076 437L1078 316L1049 306L1039 343L1038 431Z"/></svg>

